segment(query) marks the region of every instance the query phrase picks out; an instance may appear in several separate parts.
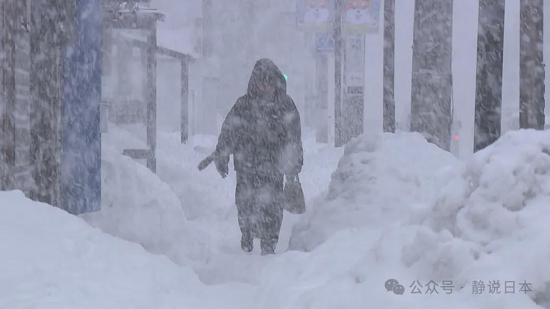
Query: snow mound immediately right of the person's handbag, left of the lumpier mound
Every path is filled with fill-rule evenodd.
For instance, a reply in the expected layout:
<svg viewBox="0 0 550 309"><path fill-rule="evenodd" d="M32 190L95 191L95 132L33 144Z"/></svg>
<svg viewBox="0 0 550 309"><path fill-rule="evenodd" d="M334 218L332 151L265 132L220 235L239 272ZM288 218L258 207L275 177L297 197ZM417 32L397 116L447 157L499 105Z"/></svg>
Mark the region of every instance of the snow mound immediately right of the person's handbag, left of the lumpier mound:
<svg viewBox="0 0 550 309"><path fill-rule="evenodd" d="M316 200L293 229L290 248L312 250L344 228L384 227L431 203L438 173L461 163L418 133L384 133L350 141Z"/></svg>

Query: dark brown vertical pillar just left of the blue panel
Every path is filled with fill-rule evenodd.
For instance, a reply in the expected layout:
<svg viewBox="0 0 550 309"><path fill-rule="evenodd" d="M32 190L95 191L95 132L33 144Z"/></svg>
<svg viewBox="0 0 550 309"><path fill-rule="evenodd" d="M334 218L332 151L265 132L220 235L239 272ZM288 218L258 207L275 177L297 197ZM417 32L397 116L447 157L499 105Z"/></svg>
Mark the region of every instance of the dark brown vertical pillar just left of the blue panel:
<svg viewBox="0 0 550 309"><path fill-rule="evenodd" d="M54 0L36 0L31 3L30 161L33 184L30 197L62 207L61 179L58 177L61 168L58 143L58 132L61 130L61 50L54 23L58 13Z"/></svg>

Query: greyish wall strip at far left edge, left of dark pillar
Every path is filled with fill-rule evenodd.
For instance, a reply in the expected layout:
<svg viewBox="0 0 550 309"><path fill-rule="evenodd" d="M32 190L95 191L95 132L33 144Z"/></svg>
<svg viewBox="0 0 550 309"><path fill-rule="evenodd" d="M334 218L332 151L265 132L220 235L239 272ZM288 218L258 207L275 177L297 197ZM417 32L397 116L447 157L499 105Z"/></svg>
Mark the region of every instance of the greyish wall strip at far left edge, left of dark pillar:
<svg viewBox="0 0 550 309"><path fill-rule="evenodd" d="M0 0L0 189L30 194L30 1Z"/></svg>

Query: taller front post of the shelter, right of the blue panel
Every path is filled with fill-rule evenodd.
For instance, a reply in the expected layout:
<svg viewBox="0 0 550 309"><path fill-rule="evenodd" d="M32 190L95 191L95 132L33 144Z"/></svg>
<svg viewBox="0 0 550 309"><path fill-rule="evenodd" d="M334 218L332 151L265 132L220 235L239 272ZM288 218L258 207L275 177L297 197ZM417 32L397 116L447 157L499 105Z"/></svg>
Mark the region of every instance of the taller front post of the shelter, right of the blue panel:
<svg viewBox="0 0 550 309"><path fill-rule="evenodd" d="M147 159L147 168L157 171L157 26L153 21L147 33L147 147L152 158Z"/></svg>

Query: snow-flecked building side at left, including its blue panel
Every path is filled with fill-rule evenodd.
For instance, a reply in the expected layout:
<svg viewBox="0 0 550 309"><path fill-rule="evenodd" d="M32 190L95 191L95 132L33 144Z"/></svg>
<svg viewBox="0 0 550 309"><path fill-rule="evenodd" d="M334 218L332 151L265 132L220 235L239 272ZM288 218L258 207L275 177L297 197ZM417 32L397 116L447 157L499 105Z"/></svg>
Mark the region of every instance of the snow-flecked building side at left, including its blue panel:
<svg viewBox="0 0 550 309"><path fill-rule="evenodd" d="M0 0L0 190L73 214L100 207L100 8Z"/></svg>

